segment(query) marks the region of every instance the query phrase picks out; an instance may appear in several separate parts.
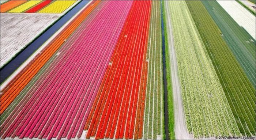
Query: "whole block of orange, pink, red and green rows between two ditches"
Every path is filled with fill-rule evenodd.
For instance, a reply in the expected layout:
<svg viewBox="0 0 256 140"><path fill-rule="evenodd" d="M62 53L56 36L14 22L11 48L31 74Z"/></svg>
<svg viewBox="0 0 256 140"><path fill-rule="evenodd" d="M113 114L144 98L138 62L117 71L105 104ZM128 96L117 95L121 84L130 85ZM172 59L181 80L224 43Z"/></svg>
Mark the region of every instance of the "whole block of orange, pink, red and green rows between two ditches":
<svg viewBox="0 0 256 140"><path fill-rule="evenodd" d="M72 139L86 132L86 137L96 139L142 139L144 133L148 139L161 139L163 83L159 8L159 2L150 1L93 1L3 88L1 138ZM133 22L136 24L131 24ZM152 43L148 41L150 23ZM120 65L126 66L118 70ZM147 77L148 68L150 77ZM119 84L114 86L117 79ZM147 81L152 85L147 86ZM123 97L113 93L120 90ZM146 94L151 97L146 100L148 121L144 124ZM99 108L104 105L102 98L113 107ZM99 109L99 113L95 109ZM153 121L155 116L159 116L157 122ZM95 118L101 120L92 123ZM115 126L113 121L117 123ZM108 133L105 130L109 130Z"/></svg>

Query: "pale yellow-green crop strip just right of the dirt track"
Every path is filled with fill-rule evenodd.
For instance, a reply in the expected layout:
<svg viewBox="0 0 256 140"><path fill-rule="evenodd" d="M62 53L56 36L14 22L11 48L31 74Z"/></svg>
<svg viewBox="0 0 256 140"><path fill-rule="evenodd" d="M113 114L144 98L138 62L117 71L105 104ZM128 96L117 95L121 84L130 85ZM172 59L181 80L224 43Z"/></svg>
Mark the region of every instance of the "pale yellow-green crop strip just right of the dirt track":
<svg viewBox="0 0 256 140"><path fill-rule="evenodd" d="M185 1L169 1L187 128L194 137L240 135Z"/></svg>

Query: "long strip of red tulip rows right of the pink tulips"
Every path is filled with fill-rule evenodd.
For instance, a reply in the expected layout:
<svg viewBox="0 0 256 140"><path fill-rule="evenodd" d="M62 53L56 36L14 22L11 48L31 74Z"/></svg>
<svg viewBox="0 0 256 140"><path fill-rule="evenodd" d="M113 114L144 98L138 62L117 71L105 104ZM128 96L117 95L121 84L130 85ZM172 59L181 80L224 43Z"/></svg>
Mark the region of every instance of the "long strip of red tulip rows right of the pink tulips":
<svg viewBox="0 0 256 140"><path fill-rule="evenodd" d="M132 3L85 125L87 139L143 137L150 12L151 1Z"/></svg>

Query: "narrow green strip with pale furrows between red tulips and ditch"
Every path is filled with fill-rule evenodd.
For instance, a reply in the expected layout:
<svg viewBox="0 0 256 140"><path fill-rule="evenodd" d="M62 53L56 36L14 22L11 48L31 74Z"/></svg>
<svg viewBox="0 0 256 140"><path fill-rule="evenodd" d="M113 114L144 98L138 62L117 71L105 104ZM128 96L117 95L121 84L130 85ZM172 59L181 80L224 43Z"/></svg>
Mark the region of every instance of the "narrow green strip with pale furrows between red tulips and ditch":
<svg viewBox="0 0 256 140"><path fill-rule="evenodd" d="M160 1L153 1L147 48L148 77L146 90L146 109L144 118L144 139L163 137L163 80L162 80L162 42L161 42Z"/></svg>

